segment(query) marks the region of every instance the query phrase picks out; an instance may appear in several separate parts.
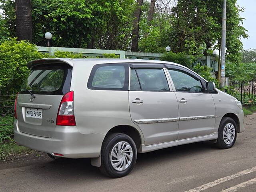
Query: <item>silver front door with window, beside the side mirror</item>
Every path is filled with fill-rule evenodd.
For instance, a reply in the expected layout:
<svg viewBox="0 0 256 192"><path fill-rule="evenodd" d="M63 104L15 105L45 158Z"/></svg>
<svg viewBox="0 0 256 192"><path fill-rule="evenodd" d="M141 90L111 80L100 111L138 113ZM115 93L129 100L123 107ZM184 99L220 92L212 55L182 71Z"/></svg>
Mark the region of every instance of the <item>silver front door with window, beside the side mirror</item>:
<svg viewBox="0 0 256 192"><path fill-rule="evenodd" d="M178 140L213 134L216 110L203 80L180 67L168 68L179 106Z"/></svg>

